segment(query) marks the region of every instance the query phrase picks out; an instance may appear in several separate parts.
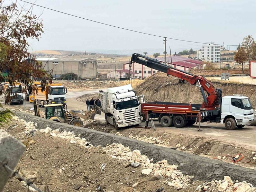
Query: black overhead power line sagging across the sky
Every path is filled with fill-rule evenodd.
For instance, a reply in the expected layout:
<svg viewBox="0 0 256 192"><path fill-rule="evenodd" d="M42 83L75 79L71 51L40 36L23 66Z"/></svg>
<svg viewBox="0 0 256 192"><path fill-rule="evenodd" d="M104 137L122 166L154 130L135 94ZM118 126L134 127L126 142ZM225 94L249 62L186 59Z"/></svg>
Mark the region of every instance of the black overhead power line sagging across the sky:
<svg viewBox="0 0 256 192"><path fill-rule="evenodd" d="M35 6L42 7L42 8L45 8L45 9L49 9L49 10L52 10L52 11L55 11L55 12L63 13L63 14L65 14L65 15L69 15L69 16L73 16L73 17L80 18L80 19L84 19L84 20L88 20L88 21L95 22L95 23L99 23L99 24L102 24L102 25L107 25L107 26L110 26L110 27L115 27L115 28L119 28L119 29L124 29L124 30L127 30L127 31L132 31L132 32L140 33L140 34L145 34L145 35L151 35L151 36L155 36L155 37L162 37L162 38L165 38L164 36L154 35L154 34L150 34L150 33L144 33L144 32L135 31L135 30L131 30L131 29L123 28L123 27L118 27L118 26L114 26L114 25L109 25L109 24L102 23L102 22L99 22L99 21L94 21L94 20L91 20L91 19L86 19L86 18L83 18L83 17L79 17L79 16L76 16L76 15L72 15L72 14L70 14L70 13L65 13L65 12L58 11L58 10L55 10L55 9L51 9L51 8L48 8L48 7L40 6L40 5L35 4L35 3L30 3L30 2L27 2L27 1L24 1L24 0L20 0L20 1L25 2L25 3L29 3L29 4L33 4L33 5L35 5ZM175 38L170 38L170 37L166 37L166 38L167 38L167 39L172 39L172 40L183 41L183 42L200 43L200 44L209 44L209 43L194 42L194 41L183 40L183 39L175 39ZM223 45L223 44L213 44L213 45ZM224 46L224 45L223 45L223 46ZM237 46L237 45L225 45L225 46Z"/></svg>

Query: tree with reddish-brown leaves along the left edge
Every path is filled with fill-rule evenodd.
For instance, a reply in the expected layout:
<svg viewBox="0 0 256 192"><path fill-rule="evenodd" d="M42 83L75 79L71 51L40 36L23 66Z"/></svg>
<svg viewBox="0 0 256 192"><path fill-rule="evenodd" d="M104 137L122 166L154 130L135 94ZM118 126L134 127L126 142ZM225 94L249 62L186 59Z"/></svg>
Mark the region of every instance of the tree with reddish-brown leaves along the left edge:
<svg viewBox="0 0 256 192"><path fill-rule="evenodd" d="M44 33L42 20L32 13L32 8L18 9L16 3L0 0L0 71L8 73L6 77L0 75L0 82L8 81L10 85L15 85L16 81L24 83L29 85L30 93L33 91L31 77L41 82L42 90L52 82L51 71L43 70L42 63L38 63L35 55L28 51L28 39L39 40ZM10 102L10 92L0 85L2 94L6 103ZM0 113L0 124L7 119L6 114L10 113Z"/></svg>

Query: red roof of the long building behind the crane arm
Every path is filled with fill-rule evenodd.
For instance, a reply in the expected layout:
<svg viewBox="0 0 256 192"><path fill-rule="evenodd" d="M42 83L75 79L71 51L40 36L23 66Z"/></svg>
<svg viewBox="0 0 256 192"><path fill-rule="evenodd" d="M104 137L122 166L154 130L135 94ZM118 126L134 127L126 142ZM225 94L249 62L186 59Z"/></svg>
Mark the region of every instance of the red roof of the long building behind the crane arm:
<svg viewBox="0 0 256 192"><path fill-rule="evenodd" d="M156 59L159 61L164 61L164 57L156 58ZM171 57L166 57L166 60L168 61L168 63L171 63ZM191 68L191 67L196 67L198 65L202 65L203 62L198 61L198 60L189 59L189 58L182 57L182 56L173 55L172 56L172 64L179 65L182 67Z"/></svg>

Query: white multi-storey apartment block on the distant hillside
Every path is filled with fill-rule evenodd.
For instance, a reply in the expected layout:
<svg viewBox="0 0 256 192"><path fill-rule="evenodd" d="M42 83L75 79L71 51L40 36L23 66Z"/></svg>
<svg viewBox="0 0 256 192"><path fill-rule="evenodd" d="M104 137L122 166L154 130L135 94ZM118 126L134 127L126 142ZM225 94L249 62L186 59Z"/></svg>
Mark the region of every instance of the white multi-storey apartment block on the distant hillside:
<svg viewBox="0 0 256 192"><path fill-rule="evenodd" d="M220 62L220 51L222 46L214 45L214 43L209 43L202 45L202 61L219 63Z"/></svg>

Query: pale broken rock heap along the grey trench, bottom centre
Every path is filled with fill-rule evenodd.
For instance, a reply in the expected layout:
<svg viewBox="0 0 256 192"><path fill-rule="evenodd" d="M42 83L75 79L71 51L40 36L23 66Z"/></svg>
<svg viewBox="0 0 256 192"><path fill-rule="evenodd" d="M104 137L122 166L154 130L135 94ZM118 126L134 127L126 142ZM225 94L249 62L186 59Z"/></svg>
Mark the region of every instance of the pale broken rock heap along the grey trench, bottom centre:
<svg viewBox="0 0 256 192"><path fill-rule="evenodd" d="M156 179L165 177L169 186L174 186L175 189L182 189L190 185L190 179L193 176L183 175L177 170L176 165L168 164L167 160L153 163L153 159L149 159L146 155L141 155L140 151L135 149L131 151L129 147L122 144L111 144L104 148L113 159L118 161L126 161L132 167L142 166L144 169L141 174L147 176L152 173Z"/></svg>

